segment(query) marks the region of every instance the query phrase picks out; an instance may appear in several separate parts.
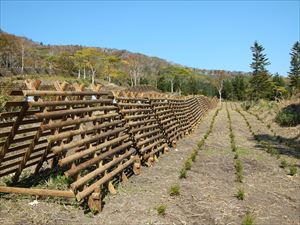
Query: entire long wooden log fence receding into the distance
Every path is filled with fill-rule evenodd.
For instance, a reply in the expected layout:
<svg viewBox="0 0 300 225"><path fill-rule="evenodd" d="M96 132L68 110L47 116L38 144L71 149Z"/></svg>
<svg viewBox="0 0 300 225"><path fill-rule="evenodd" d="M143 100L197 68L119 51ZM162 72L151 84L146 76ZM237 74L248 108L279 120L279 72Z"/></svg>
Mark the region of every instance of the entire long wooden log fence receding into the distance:
<svg viewBox="0 0 300 225"><path fill-rule="evenodd" d="M39 90L13 91L21 101L7 102L0 115L0 177L16 184L25 168L64 168L69 191L0 187L0 192L74 197L101 210L103 188L116 193L142 165L175 148L192 132L217 99L174 97L156 92L105 92L100 86L56 82Z"/></svg>

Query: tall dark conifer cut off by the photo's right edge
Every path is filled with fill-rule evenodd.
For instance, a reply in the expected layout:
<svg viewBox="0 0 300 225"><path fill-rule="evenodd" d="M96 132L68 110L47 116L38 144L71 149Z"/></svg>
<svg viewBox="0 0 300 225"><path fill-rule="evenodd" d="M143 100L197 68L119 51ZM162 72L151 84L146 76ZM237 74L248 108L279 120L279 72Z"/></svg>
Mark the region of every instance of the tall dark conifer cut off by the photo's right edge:
<svg viewBox="0 0 300 225"><path fill-rule="evenodd" d="M292 48L291 66L289 78L291 80L290 87L293 91L300 91L300 42L297 41Z"/></svg>

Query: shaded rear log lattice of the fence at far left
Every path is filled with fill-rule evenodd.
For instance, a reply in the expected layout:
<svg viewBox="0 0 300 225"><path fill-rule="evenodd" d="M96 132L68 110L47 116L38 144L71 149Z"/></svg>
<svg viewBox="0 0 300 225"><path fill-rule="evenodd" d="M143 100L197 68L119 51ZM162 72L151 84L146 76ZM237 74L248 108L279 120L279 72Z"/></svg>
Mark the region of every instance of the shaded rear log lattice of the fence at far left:
<svg viewBox="0 0 300 225"><path fill-rule="evenodd" d="M40 82L27 82L28 91L38 89ZM19 95L23 93L13 93ZM28 99L27 99L28 100ZM32 97L31 100L38 100ZM35 113L43 109L30 107L28 101L14 101L6 103L7 111L0 116L1 134L3 141L0 143L0 176L16 173L26 167L37 164L47 147L47 136L50 132L40 133L42 120L36 118ZM48 155L48 159L54 155Z"/></svg>

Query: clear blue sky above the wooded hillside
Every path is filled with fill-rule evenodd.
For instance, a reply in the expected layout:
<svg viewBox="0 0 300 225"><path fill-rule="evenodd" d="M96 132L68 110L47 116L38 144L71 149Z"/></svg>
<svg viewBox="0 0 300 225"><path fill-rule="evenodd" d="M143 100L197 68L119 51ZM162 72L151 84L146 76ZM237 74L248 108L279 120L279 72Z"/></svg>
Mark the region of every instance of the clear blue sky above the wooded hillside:
<svg viewBox="0 0 300 225"><path fill-rule="evenodd" d="M127 49L182 65L250 71L261 43L270 72L289 70L294 1L1 1L1 28L44 44Z"/></svg>

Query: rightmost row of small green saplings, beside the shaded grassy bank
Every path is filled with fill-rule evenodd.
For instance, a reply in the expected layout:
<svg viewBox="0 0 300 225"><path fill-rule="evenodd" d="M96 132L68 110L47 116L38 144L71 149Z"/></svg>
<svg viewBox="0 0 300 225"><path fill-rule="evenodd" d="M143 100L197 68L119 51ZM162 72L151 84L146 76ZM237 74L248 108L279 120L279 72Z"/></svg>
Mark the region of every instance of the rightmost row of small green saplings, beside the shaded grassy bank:
<svg viewBox="0 0 300 225"><path fill-rule="evenodd" d="M259 135L257 133L255 133L255 131L253 130L253 127L251 126L247 117L237 107L236 107L236 111L243 117L254 140L256 140L260 144L260 146L271 156L276 156L277 159L280 159L280 153L276 149L276 147L274 145L272 145L272 143L270 141L263 140L262 138L259 137ZM297 167L295 165L289 165L285 159L282 159L280 161L279 167L282 169L286 169L288 167L289 168L288 174L291 176L294 176L297 173Z"/></svg>

